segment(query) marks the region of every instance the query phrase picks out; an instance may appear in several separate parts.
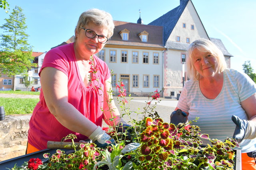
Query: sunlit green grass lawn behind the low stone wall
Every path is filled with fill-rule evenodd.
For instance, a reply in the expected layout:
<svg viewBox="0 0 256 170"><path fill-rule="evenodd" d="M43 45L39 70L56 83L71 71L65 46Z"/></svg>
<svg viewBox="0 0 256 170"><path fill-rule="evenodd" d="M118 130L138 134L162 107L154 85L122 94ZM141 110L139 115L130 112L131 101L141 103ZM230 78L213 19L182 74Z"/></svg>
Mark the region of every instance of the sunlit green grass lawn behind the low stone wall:
<svg viewBox="0 0 256 170"><path fill-rule="evenodd" d="M22 91L0 91L5 94L30 94L39 95L40 92L22 92ZM30 114L39 99L30 98L0 98L0 106L4 106L5 115Z"/></svg>

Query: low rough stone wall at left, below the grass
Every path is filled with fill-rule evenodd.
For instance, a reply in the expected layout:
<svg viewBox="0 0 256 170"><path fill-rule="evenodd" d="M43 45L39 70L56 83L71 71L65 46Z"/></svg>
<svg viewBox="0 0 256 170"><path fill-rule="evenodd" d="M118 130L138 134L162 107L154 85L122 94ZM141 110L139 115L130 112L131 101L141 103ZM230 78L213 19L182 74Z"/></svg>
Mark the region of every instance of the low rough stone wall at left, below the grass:
<svg viewBox="0 0 256 170"><path fill-rule="evenodd" d="M0 161L24 155L28 141L28 115L6 115L0 121Z"/></svg>

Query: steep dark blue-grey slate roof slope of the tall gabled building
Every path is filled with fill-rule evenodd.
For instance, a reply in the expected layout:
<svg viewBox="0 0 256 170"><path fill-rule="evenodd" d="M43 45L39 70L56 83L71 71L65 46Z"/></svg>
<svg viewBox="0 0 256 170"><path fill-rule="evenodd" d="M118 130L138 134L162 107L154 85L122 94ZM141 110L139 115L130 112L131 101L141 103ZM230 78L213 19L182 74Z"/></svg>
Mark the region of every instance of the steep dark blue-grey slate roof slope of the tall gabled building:
<svg viewBox="0 0 256 170"><path fill-rule="evenodd" d="M166 44L167 39L170 37L172 30L174 29L176 23L178 22L181 14L186 8L189 0L181 0L180 6L174 8L173 10L167 12L163 16L157 18L156 20L150 22L148 25L160 25L164 27L164 44Z"/></svg>

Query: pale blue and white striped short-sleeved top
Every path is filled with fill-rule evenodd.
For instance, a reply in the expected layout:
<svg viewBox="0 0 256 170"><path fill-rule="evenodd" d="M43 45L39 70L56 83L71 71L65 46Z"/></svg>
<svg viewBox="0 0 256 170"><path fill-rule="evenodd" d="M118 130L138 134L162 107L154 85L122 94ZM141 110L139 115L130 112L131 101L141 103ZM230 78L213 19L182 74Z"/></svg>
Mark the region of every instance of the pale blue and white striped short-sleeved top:
<svg viewBox="0 0 256 170"><path fill-rule="evenodd" d="M232 138L236 125L231 120L232 115L240 119L248 119L240 102L256 93L256 84L245 73L233 69L224 70L224 81L220 94L215 99L204 97L199 88L199 82L189 80L184 85L177 107L189 113L188 120L199 117L197 125L201 133L206 133L211 139L224 141ZM202 139L204 144L208 140ZM209 143L210 144L210 143ZM256 150L256 139L243 140L240 144L242 152Z"/></svg>

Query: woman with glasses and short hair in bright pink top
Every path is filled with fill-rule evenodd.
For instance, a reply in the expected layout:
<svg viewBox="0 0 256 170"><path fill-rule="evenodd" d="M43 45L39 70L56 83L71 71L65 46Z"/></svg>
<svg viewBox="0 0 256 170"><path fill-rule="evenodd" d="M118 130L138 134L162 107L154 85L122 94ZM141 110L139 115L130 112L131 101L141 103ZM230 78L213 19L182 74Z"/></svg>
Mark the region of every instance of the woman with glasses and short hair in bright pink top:
<svg viewBox="0 0 256 170"><path fill-rule="evenodd" d="M61 141L70 133L77 136L75 141L89 138L106 147L106 140L114 140L102 130L102 120L111 126L128 126L108 93L110 70L95 55L113 29L110 14L88 10L80 15L75 42L48 51L39 72L42 89L29 123L27 153L46 149L47 141Z"/></svg>

